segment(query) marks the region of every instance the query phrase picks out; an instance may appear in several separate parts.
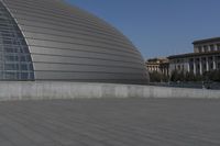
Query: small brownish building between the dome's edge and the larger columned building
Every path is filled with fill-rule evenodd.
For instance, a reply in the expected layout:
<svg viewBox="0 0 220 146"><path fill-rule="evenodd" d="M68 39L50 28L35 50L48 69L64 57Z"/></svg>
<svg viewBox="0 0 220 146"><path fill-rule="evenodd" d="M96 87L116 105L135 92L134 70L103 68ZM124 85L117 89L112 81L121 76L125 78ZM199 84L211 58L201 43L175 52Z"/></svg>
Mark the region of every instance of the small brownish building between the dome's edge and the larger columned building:
<svg viewBox="0 0 220 146"><path fill-rule="evenodd" d="M160 72L165 76L168 75L169 61L167 58L152 58L146 61L148 72Z"/></svg>

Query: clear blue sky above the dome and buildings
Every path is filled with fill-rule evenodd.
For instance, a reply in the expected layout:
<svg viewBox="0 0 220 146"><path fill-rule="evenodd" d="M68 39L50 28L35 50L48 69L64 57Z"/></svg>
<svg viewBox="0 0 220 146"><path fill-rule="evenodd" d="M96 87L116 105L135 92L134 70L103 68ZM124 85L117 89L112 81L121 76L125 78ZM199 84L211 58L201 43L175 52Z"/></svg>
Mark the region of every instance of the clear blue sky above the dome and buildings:
<svg viewBox="0 0 220 146"><path fill-rule="evenodd" d="M220 36L220 0L66 0L127 35L144 58L193 52Z"/></svg>

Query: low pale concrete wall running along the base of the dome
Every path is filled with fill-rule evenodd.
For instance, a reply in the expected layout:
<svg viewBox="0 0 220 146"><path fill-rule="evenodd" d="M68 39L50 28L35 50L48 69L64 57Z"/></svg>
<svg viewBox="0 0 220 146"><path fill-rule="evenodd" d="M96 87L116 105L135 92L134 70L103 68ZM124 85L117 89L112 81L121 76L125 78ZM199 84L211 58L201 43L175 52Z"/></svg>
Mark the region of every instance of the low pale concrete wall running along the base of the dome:
<svg viewBox="0 0 220 146"><path fill-rule="evenodd" d="M75 98L220 98L220 90L85 82L0 82L0 101Z"/></svg>

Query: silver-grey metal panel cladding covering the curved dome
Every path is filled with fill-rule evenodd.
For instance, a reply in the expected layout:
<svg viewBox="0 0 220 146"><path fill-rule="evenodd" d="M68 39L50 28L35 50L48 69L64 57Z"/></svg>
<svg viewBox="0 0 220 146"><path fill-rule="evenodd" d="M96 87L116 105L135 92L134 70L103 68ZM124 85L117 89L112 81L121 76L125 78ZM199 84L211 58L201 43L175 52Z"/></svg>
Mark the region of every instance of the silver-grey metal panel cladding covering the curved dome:
<svg viewBox="0 0 220 146"><path fill-rule="evenodd" d="M29 46L35 80L144 83L140 52L118 30L63 0L2 0Z"/></svg>

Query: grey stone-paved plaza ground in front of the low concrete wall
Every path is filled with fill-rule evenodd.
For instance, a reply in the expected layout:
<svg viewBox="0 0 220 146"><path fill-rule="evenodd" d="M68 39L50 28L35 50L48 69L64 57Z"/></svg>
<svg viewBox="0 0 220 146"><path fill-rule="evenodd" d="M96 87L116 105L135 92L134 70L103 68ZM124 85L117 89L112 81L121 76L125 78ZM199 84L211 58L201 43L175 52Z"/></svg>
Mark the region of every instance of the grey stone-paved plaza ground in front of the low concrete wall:
<svg viewBox="0 0 220 146"><path fill-rule="evenodd" d="M219 146L220 100L0 102L0 146Z"/></svg>

